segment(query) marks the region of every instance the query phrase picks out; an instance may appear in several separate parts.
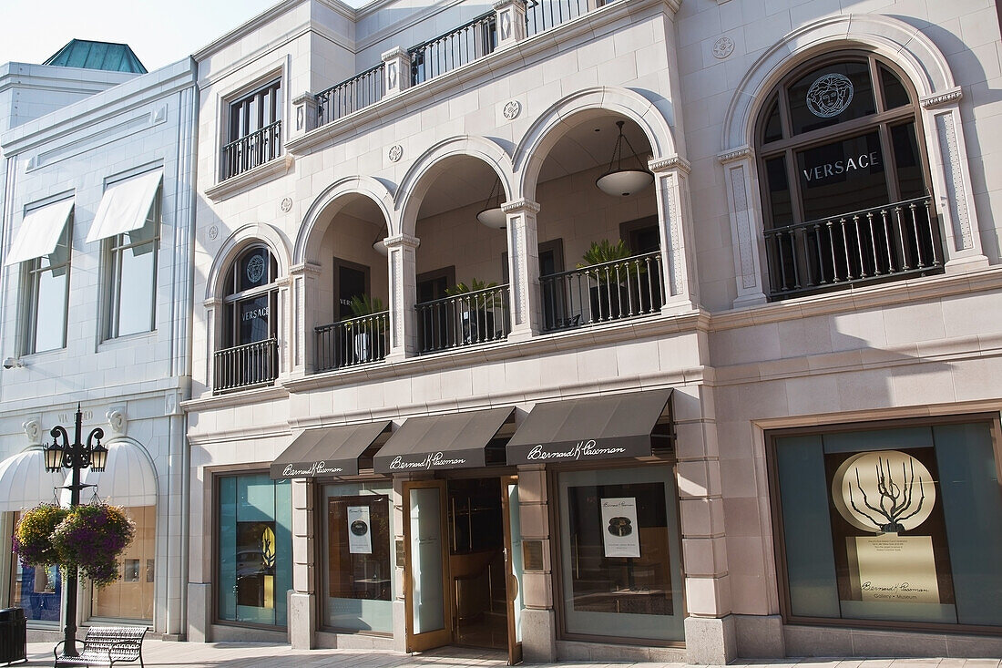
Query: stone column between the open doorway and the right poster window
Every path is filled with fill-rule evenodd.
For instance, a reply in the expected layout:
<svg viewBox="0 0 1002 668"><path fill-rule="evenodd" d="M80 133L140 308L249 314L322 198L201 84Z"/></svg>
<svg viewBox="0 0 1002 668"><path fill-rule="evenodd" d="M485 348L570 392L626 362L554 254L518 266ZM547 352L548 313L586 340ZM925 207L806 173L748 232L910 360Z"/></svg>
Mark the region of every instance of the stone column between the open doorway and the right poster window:
<svg viewBox="0 0 1002 668"><path fill-rule="evenodd" d="M523 563L522 654L527 663L550 663L557 659L557 623L553 610L553 565L550 541L549 498L546 470L541 465L518 467L518 510L522 545L538 554L542 563ZM538 545L536 551L532 546ZM538 566L538 568L529 568Z"/></svg>

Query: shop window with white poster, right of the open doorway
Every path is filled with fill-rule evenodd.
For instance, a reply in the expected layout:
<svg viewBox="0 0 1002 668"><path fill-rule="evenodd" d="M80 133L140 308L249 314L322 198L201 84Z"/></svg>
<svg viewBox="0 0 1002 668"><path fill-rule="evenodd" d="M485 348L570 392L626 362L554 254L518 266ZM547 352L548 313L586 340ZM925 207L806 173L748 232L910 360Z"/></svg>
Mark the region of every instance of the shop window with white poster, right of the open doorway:
<svg viewBox="0 0 1002 668"><path fill-rule="evenodd" d="M559 474L568 633L682 639L675 486L666 466Z"/></svg>

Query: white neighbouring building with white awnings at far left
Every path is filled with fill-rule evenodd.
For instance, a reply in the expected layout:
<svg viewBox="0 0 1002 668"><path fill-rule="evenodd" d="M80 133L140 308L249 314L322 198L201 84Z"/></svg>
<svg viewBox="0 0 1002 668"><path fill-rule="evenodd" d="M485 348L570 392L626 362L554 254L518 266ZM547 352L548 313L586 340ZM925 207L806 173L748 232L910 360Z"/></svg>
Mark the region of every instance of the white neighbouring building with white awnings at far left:
<svg viewBox="0 0 1002 668"><path fill-rule="evenodd" d="M67 48L74 44L94 47ZM103 49L134 59L125 45ZM9 537L19 511L54 498L63 476L44 472L40 445L57 424L72 437L79 403L84 436L102 427L109 448L104 472L85 471L97 486L82 498L125 506L137 524L123 578L101 590L84 585L79 621L142 621L180 637L194 68L185 58L126 74L64 55L68 66L5 66L16 122L0 135L2 526ZM58 630L55 570L22 568L4 554L4 605L24 608L32 629Z"/></svg>

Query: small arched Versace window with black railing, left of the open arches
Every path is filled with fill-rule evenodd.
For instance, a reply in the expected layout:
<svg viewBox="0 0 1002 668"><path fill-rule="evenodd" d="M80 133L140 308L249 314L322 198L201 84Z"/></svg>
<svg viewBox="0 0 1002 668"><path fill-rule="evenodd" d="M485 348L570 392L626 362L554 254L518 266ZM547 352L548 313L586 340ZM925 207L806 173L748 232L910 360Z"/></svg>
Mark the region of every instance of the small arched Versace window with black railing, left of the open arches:
<svg viewBox="0 0 1002 668"><path fill-rule="evenodd" d="M278 269L275 257L260 245L243 251L229 268L214 392L270 383L278 376Z"/></svg>

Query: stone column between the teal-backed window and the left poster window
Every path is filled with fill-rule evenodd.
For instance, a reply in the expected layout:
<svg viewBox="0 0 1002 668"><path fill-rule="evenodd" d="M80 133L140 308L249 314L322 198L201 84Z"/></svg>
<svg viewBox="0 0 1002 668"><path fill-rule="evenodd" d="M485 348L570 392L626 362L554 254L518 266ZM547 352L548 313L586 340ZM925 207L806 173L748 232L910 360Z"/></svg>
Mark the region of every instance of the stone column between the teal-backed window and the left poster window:
<svg viewBox="0 0 1002 668"><path fill-rule="evenodd" d="M315 559L314 483L292 481L293 590L289 592L289 642L293 649L313 649L317 631L317 568Z"/></svg>

